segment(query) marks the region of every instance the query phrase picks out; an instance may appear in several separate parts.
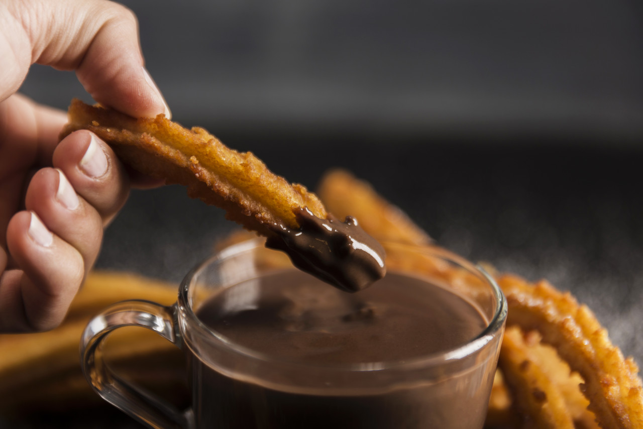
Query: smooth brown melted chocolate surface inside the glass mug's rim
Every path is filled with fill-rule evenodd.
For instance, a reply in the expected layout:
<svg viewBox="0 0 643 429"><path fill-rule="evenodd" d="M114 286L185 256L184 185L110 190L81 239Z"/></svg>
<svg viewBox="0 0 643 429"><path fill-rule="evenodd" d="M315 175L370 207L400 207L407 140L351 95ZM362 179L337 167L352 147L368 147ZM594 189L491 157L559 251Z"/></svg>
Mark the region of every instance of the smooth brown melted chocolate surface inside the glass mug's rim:
<svg viewBox="0 0 643 429"><path fill-rule="evenodd" d="M221 291L198 315L235 344L321 364L428 356L472 340L487 324L453 291L395 272L353 295L297 269L280 271Z"/></svg>

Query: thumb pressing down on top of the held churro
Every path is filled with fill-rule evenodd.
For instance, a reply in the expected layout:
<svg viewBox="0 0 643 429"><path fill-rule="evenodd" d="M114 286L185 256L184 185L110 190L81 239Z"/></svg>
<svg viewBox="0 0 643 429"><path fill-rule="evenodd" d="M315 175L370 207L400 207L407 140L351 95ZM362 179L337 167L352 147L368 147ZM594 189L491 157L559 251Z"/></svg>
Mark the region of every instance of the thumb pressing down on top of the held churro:
<svg viewBox="0 0 643 429"><path fill-rule="evenodd" d="M130 116L156 116L170 111L147 73L138 39L138 21L131 10L105 0L8 0L15 20L0 30L3 42L30 47L30 64L75 70L86 91L100 104ZM5 31L5 29L9 29ZM19 39L19 40L17 40ZM9 58L23 70L25 55ZM24 78L24 77L23 77Z"/></svg>

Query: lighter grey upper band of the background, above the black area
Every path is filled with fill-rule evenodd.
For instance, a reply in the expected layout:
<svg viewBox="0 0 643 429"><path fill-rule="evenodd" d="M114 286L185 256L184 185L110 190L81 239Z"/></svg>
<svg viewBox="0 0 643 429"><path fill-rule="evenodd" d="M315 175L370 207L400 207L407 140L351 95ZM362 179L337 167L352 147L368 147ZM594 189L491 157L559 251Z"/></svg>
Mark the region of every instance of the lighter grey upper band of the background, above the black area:
<svg viewBox="0 0 643 429"><path fill-rule="evenodd" d="M260 127L643 132L636 0L125 1L177 120ZM66 106L73 77L28 92Z"/></svg>

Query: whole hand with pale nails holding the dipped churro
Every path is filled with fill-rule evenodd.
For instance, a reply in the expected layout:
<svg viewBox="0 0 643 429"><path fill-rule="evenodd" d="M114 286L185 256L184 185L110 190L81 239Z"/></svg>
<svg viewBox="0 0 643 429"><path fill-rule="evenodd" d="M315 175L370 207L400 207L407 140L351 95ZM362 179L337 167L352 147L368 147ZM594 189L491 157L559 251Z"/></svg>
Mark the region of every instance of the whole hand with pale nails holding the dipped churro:
<svg viewBox="0 0 643 429"><path fill-rule="evenodd" d="M15 91L31 64L47 64L75 70L123 113L170 112L143 66L136 17L116 3L0 0L0 59L0 332L42 331L62 322L130 178L90 132L59 143L66 114Z"/></svg>

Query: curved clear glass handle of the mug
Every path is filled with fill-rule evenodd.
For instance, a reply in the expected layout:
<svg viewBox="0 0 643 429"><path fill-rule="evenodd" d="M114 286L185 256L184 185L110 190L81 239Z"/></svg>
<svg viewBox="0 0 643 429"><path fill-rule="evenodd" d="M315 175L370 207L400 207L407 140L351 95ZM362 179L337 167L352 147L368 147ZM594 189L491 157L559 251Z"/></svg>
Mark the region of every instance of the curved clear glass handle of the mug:
<svg viewBox="0 0 643 429"><path fill-rule="evenodd" d="M120 327L141 326L160 334L181 347L174 315L176 306L163 307L154 302L129 300L107 307L95 316L82 335L80 360L91 387L105 401L152 428L189 428L186 416L176 407L156 399L118 378L103 359L105 338Z"/></svg>

